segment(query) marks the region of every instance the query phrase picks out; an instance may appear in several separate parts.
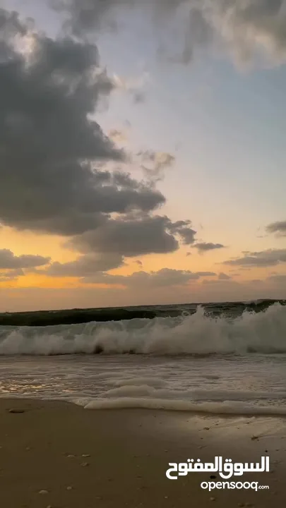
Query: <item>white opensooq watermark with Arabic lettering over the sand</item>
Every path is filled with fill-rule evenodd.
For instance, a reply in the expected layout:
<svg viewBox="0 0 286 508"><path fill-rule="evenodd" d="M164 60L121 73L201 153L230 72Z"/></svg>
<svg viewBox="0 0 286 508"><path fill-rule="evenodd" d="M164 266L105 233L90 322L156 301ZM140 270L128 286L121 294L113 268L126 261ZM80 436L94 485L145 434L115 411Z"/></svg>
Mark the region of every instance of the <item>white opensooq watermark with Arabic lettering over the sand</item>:
<svg viewBox="0 0 286 508"><path fill-rule="evenodd" d="M244 464L242 462L232 463L232 459L222 461L222 456L216 456L213 462L201 462L197 459L188 459L185 462L169 462L169 469L166 476L169 480L177 480L179 476L187 476L189 473L218 473L224 480L229 480L232 476L242 476L244 473L269 473L270 459L269 456L262 456L261 463L254 462ZM268 489L268 485L258 485L258 482L202 482L201 488L213 490L215 488L228 489Z"/></svg>

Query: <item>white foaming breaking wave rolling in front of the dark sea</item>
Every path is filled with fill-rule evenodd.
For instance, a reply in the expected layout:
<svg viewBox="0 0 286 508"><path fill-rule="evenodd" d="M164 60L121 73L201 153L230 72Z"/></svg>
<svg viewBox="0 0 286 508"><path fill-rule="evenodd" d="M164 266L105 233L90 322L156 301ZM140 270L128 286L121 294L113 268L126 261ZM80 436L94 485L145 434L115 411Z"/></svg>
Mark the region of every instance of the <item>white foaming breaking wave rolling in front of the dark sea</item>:
<svg viewBox="0 0 286 508"><path fill-rule="evenodd" d="M212 355L286 353L286 307L260 313L192 315L47 327L0 327L0 355Z"/></svg>

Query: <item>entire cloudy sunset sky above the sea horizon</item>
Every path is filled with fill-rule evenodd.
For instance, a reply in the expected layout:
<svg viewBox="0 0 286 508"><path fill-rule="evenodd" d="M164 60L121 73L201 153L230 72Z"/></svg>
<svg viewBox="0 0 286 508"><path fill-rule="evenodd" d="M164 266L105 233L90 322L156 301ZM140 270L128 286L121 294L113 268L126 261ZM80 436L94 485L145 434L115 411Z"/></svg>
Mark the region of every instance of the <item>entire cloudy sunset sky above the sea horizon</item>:
<svg viewBox="0 0 286 508"><path fill-rule="evenodd" d="M286 298L286 0L0 0L0 312Z"/></svg>

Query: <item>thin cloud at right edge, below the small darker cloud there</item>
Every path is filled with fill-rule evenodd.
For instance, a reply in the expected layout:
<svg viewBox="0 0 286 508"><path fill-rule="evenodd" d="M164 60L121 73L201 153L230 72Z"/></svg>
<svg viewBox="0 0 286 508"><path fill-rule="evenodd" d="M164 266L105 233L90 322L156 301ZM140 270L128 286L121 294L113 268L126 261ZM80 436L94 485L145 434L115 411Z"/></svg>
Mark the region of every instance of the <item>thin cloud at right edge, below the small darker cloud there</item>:
<svg viewBox="0 0 286 508"><path fill-rule="evenodd" d="M227 260L224 265L242 267L269 267L286 262L286 249L267 249L261 252L246 252L243 258Z"/></svg>

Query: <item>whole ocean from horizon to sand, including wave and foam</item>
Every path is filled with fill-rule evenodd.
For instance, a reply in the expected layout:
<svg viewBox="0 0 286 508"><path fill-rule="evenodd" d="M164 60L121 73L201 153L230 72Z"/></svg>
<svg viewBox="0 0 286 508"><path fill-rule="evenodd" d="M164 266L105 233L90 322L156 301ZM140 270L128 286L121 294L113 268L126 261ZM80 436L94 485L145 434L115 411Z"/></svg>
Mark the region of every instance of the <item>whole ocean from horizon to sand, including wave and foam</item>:
<svg viewBox="0 0 286 508"><path fill-rule="evenodd" d="M286 301L0 314L0 396L286 414Z"/></svg>

